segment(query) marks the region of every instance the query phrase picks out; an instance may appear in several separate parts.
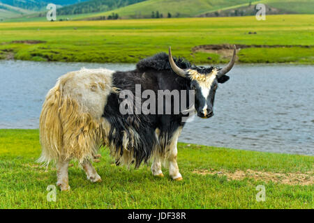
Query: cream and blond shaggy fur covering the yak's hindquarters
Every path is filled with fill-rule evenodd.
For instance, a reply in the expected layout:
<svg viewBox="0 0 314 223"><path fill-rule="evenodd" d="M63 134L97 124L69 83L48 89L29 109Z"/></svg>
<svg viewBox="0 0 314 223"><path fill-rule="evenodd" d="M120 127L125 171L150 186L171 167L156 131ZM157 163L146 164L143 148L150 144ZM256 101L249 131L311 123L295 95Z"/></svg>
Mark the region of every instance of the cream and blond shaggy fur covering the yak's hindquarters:
<svg viewBox="0 0 314 223"><path fill-rule="evenodd" d="M58 79L47 93L40 114L39 162L92 158L110 129L103 107L111 89L112 71L82 69Z"/></svg>

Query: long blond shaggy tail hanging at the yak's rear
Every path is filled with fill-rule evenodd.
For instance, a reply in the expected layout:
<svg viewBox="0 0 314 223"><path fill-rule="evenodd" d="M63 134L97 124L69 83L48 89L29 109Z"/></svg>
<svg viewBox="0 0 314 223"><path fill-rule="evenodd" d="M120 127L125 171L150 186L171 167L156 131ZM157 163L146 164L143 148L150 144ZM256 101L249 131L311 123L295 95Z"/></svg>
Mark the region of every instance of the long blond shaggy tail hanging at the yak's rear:
<svg viewBox="0 0 314 223"><path fill-rule="evenodd" d="M49 164L52 160L57 160L61 155L63 147L62 123L59 108L62 101L62 86L59 79L45 98L43 109L39 120L40 144L42 153L38 162Z"/></svg>

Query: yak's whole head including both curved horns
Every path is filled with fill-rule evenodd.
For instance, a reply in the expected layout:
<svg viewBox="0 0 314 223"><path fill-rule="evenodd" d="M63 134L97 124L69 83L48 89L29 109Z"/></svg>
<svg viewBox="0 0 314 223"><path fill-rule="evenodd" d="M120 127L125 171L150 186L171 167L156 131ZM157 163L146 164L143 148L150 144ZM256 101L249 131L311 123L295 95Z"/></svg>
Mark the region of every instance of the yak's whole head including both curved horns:
<svg viewBox="0 0 314 223"><path fill-rule="evenodd" d="M201 118L214 116L214 99L218 83L227 82L229 77L226 75L234 66L237 49L234 52L230 63L225 68L204 68L192 67L187 69L179 68L172 59L171 48L169 48L169 62L172 70L179 75L190 80L190 89L195 91L195 112Z"/></svg>

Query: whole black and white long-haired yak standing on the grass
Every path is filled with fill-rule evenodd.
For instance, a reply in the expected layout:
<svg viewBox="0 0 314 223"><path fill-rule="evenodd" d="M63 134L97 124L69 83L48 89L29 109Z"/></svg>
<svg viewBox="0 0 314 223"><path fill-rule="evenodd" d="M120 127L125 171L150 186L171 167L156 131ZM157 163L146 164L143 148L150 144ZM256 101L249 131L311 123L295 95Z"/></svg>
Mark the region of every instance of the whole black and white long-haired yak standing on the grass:
<svg viewBox="0 0 314 223"><path fill-rule="evenodd" d="M160 90L194 90L193 98L187 98L194 102L193 114L210 118L214 115L218 83L229 79L225 74L234 65L235 54L234 46L232 60L223 69L191 66L184 59L172 59L169 49L169 56L156 54L127 72L84 68L68 72L59 77L45 98L40 114L42 154L38 161L57 163L57 185L61 190L70 190L68 163L72 159L80 162L91 182L101 181L91 164L101 146L110 149L116 164L134 163L137 168L153 158L154 176L163 176L161 164L165 163L171 178L182 180L177 140L186 114L121 114L123 100L119 94L123 90L135 94L135 84L140 84L142 92L149 89L156 94ZM174 105L170 106L173 112Z"/></svg>

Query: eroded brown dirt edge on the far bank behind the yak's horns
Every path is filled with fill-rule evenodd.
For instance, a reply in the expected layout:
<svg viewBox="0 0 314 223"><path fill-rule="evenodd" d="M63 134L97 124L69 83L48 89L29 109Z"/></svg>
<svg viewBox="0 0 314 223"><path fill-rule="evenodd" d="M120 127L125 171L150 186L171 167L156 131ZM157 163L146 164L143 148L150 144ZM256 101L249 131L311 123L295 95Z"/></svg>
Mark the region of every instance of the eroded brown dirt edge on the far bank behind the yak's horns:
<svg viewBox="0 0 314 223"><path fill-rule="evenodd" d="M249 32L249 34L257 34L255 32ZM285 47L302 47L311 48L312 45L244 45L236 44L237 52L246 48L285 48ZM192 48L192 52L204 52L209 54L219 54L224 59L230 59L233 52L233 45L231 44L218 44L218 45L199 45Z"/></svg>

